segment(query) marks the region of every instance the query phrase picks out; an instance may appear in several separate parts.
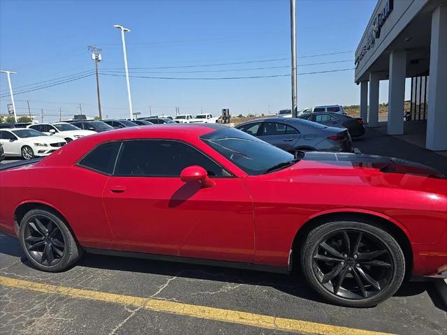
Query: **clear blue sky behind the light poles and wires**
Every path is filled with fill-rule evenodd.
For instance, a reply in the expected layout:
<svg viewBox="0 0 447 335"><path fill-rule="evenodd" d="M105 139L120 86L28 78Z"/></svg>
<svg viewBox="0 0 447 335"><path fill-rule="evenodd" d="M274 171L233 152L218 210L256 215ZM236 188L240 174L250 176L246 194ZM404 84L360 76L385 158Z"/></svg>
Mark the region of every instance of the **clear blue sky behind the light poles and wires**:
<svg viewBox="0 0 447 335"><path fill-rule="evenodd" d="M298 73L353 68L353 50L376 0L299 1ZM94 61L87 45L102 47L100 70L122 75L119 31L126 34L131 75L149 77L247 77L290 73L289 1L0 1L0 68L14 70L15 91L45 80L89 73ZM313 56L346 52L325 56ZM270 61L271 59L284 59ZM261 62L260 62L261 61ZM339 61L334 64L316 64ZM219 66L209 64L243 63ZM177 68L172 68L177 66ZM194 66L182 67L178 66ZM168 68L166 68L168 67ZM139 68L139 69L135 69ZM142 69L143 68L143 69ZM155 68L155 69L154 69ZM254 68L257 68L256 70ZM263 69L258 69L263 68ZM118 72L111 72L118 71ZM208 71L208 72L191 72ZM212 72L211 72L212 71ZM133 110L143 115L181 112L232 114L276 112L291 105L290 77L242 80L156 80L131 77ZM51 83L51 81L44 82ZM20 88L22 87L22 88ZM7 93L0 76L1 94ZM358 104L353 70L298 75L298 107ZM0 113L10 98L0 98ZM79 112L94 116L94 76L15 95L17 112L40 114L45 121ZM387 101L386 85L381 101ZM103 117L129 114L124 77L101 75Z"/></svg>

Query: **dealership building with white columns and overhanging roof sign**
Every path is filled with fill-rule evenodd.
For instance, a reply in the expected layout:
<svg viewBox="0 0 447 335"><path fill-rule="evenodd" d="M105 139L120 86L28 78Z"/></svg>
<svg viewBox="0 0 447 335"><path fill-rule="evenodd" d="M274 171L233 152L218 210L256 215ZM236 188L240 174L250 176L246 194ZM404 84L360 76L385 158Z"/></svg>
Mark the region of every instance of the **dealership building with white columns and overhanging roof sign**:
<svg viewBox="0 0 447 335"><path fill-rule="evenodd" d="M386 132L403 135L405 122L418 123L427 149L447 150L447 0L379 0L355 62L360 114L369 126L379 126L379 84L388 80Z"/></svg>

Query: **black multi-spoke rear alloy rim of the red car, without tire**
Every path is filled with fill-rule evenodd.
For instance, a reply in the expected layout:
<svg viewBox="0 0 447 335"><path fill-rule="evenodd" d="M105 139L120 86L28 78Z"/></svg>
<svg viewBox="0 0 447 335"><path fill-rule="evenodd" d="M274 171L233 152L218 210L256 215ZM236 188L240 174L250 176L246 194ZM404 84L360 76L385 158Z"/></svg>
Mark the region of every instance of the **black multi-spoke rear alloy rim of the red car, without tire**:
<svg viewBox="0 0 447 335"><path fill-rule="evenodd" d="M65 241L51 218L34 216L25 223L24 241L27 251L41 265L57 265L64 256Z"/></svg>

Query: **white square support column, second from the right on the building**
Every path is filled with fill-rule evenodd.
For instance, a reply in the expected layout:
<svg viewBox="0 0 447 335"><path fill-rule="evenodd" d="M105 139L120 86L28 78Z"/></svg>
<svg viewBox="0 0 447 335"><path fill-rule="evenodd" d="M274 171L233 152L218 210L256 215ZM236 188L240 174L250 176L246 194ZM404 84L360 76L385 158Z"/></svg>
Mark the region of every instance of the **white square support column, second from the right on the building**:
<svg viewBox="0 0 447 335"><path fill-rule="evenodd" d="M390 53L390 84L388 88L388 135L404 133L404 101L406 51Z"/></svg>

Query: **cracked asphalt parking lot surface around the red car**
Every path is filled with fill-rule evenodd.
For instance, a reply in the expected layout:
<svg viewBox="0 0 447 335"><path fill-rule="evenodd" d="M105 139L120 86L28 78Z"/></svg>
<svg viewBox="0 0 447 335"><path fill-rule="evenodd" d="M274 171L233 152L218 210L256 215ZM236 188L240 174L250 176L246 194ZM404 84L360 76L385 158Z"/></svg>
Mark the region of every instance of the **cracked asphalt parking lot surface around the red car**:
<svg viewBox="0 0 447 335"><path fill-rule="evenodd" d="M445 157L374 131L353 145L444 166ZM299 273L88 254L45 273L3 234L0 311L0 334L447 334L447 306L432 282L406 283L374 308L343 308L322 301Z"/></svg>

